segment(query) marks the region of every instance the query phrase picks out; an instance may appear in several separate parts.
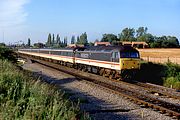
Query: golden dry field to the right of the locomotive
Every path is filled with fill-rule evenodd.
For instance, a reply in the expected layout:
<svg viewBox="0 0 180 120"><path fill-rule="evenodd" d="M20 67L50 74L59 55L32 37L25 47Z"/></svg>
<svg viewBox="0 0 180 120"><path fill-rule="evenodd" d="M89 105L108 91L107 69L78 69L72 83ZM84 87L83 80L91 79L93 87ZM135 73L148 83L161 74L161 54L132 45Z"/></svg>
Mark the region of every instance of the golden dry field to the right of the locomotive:
<svg viewBox="0 0 180 120"><path fill-rule="evenodd" d="M180 64L180 49L138 49L142 59L156 63L169 61Z"/></svg>

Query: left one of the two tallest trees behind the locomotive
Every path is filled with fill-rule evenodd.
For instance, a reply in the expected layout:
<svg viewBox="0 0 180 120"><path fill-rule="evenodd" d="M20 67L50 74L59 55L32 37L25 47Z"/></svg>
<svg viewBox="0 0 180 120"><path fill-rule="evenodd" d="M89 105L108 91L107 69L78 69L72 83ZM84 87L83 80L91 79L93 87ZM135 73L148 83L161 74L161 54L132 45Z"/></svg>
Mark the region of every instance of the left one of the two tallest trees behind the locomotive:
<svg viewBox="0 0 180 120"><path fill-rule="evenodd" d="M136 41L134 28L125 28L119 35L120 41Z"/></svg>

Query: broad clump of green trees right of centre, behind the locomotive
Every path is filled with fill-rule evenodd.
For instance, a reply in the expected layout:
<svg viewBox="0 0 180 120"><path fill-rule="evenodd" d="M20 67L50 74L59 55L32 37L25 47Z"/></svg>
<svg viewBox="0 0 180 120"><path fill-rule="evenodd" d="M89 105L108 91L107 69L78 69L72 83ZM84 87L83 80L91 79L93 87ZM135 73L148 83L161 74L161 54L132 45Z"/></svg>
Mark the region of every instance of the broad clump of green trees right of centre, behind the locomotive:
<svg viewBox="0 0 180 120"><path fill-rule="evenodd" d="M175 36L161 36L157 37L148 33L147 27L139 27L137 30L134 28L124 28L118 35L103 34L102 42L110 42L117 44L123 41L129 42L146 42L150 48L177 48L179 41Z"/></svg>

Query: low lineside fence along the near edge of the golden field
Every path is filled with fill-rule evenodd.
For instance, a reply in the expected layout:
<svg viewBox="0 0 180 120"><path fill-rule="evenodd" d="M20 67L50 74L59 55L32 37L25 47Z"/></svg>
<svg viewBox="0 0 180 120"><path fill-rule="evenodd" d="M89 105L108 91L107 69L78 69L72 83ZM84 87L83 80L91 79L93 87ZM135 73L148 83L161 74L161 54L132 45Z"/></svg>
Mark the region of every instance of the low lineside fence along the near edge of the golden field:
<svg viewBox="0 0 180 120"><path fill-rule="evenodd" d="M167 63L169 61L175 64L180 64L180 57L141 57L141 59L155 63Z"/></svg>

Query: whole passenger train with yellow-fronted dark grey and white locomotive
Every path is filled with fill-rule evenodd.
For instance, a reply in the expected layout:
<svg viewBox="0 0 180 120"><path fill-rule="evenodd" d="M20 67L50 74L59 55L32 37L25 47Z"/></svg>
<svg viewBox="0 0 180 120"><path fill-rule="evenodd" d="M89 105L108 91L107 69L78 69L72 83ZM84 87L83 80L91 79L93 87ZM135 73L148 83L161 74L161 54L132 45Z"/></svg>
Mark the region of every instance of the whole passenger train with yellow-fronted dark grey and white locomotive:
<svg viewBox="0 0 180 120"><path fill-rule="evenodd" d="M140 54L131 46L19 49L18 53L117 80L140 69Z"/></svg>

